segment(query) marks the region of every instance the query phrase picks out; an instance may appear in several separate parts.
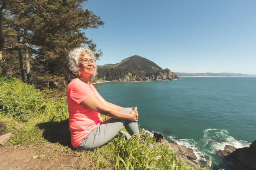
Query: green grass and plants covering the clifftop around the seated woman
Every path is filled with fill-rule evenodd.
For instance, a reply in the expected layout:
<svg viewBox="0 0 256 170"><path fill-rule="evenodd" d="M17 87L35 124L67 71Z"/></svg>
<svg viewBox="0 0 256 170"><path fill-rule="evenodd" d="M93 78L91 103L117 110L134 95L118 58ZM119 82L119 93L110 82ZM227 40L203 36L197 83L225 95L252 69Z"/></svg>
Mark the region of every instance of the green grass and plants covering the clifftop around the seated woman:
<svg viewBox="0 0 256 170"><path fill-rule="evenodd" d="M52 157L42 158L44 160L65 153L76 155L80 160L90 160L90 167L74 167L74 162L70 162L74 169L193 170L182 160L176 160L175 153L166 145L154 146L153 150L149 150L146 143L141 143L135 137L125 140L120 136L92 151L74 150L70 144L68 107L65 98L51 98L36 90L33 85L20 83L19 80L5 75L0 75L0 97L0 122L7 127L7 133L14 134L8 143L28 147L53 143L53 146L45 151L52 153ZM102 117L104 120L108 118ZM22 125L22 128L15 130L12 128L15 125ZM140 133L143 134L141 130ZM148 143L155 143L154 138L146 133L144 135ZM60 166L59 169L66 167Z"/></svg>

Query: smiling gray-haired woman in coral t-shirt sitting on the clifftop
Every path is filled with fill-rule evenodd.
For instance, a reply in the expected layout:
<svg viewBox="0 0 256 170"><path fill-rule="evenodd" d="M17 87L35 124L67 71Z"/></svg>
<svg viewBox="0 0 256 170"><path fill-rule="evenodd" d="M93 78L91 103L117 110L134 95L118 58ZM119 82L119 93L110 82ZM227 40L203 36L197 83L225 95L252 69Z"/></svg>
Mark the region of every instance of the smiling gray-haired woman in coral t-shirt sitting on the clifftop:
<svg viewBox="0 0 256 170"><path fill-rule="evenodd" d="M67 64L67 103L73 148L92 150L100 147L113 139L123 126L131 135L139 134L137 107L124 108L105 101L90 83L90 78L97 74L97 66L89 47L72 50ZM110 118L102 121L100 114Z"/></svg>

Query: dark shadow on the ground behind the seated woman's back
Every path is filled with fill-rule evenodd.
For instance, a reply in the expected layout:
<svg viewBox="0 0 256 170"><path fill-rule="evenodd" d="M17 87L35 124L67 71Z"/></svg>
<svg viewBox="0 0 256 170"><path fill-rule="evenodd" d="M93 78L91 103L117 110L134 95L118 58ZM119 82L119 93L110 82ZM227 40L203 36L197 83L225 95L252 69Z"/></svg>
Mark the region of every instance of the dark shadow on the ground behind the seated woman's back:
<svg viewBox="0 0 256 170"><path fill-rule="evenodd" d="M69 131L69 119L38 123L36 126L44 130L44 138L51 143L59 143L72 148Z"/></svg>

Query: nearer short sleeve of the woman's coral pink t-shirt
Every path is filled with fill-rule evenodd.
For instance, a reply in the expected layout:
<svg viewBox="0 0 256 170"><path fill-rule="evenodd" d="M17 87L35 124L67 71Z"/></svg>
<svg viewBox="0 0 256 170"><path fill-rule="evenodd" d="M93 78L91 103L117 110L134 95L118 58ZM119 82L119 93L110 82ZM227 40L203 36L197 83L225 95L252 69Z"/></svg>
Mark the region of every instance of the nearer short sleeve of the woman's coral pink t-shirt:
<svg viewBox="0 0 256 170"><path fill-rule="evenodd" d="M70 98L77 104L94 95L91 88L81 80L78 80L72 84L70 89Z"/></svg>

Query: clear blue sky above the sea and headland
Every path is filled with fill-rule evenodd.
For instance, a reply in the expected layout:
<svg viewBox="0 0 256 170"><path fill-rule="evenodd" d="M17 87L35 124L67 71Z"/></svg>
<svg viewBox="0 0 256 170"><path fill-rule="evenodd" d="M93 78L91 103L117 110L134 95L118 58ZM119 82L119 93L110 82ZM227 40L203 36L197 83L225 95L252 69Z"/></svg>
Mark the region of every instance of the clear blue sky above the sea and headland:
<svg viewBox="0 0 256 170"><path fill-rule="evenodd" d="M256 0L89 0L98 65L140 55L173 72L256 74Z"/></svg>

